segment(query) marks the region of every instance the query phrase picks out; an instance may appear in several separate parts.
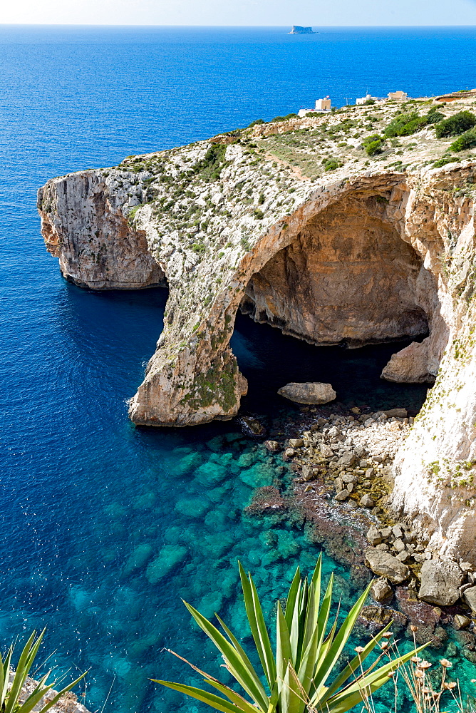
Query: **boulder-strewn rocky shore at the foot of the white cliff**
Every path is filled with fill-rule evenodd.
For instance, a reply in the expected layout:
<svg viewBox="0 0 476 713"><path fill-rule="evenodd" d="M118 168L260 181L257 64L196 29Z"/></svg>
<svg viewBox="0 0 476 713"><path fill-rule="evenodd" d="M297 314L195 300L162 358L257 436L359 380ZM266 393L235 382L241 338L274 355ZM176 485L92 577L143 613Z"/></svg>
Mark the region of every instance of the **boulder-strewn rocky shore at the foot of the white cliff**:
<svg viewBox="0 0 476 713"><path fill-rule="evenodd" d="M259 488L249 513L300 513L308 538L348 566L356 588L375 577L374 603L364 607L358 622L362 635L393 620L393 628L408 638L430 640L448 656L461 650L476 664L472 565L440 559L428 530L390 510L393 458L413 417L405 409L369 413L336 406L320 407L319 416L317 409L301 409L286 424L288 437L264 441L270 452L281 452L294 477L284 494L278 487Z"/></svg>

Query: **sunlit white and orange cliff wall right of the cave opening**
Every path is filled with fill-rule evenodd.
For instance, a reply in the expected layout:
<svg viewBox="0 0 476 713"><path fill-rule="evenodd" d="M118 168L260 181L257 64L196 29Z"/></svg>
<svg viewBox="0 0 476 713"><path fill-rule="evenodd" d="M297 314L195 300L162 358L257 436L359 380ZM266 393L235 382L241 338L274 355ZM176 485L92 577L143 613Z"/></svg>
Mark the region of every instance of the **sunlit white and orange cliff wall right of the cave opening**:
<svg viewBox="0 0 476 713"><path fill-rule="evenodd" d="M405 231L438 283L428 361L439 370L395 458L392 503L427 528L437 558L476 565L475 173L431 173L411 196Z"/></svg>

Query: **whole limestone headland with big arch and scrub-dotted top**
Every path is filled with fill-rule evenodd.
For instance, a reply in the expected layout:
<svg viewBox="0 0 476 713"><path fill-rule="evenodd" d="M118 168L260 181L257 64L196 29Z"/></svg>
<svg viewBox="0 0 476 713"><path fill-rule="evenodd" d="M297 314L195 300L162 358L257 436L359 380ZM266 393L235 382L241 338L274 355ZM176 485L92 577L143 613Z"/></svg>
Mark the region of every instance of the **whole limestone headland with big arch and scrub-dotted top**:
<svg viewBox="0 0 476 713"><path fill-rule="evenodd" d="M398 111L389 102L374 119L385 126ZM393 506L433 531L435 547L474 560L476 166L433 168L450 140L432 128L369 159L362 140L375 122L358 129L369 113L258 125L51 180L38 196L43 235L77 284L167 279L165 327L130 403L137 424L237 414L247 384L229 338L240 305L314 344L425 337L383 371L436 378L395 460ZM321 160L330 151L332 165Z"/></svg>

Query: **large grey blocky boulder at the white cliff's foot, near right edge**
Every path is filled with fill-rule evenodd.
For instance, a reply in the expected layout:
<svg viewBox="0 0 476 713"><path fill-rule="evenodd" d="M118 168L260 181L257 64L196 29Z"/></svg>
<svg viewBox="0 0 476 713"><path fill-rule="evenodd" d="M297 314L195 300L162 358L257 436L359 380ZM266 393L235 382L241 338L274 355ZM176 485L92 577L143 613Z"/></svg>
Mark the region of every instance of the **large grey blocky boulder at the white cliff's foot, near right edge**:
<svg viewBox="0 0 476 713"><path fill-rule="evenodd" d="M418 596L430 604L448 607L460 598L459 588L463 577L462 570L455 562L425 560L421 568L421 586Z"/></svg>

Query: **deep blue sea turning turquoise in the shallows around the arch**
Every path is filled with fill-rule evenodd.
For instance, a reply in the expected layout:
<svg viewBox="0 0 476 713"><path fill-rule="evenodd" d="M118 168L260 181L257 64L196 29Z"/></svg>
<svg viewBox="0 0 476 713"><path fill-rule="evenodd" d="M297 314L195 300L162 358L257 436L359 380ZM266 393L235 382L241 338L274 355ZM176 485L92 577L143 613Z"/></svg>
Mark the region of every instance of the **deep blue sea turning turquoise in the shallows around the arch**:
<svg viewBox="0 0 476 713"><path fill-rule="evenodd" d="M56 651L60 671L90 668L93 711L201 712L148 682L197 682L162 647L217 670L180 597L246 635L237 558L271 612L296 563L310 569L319 549L299 523L243 512L280 461L236 423L130 424L126 400L167 294L66 283L43 247L36 190L326 94L340 105L367 90L420 96L476 83L474 28L287 31L0 26L0 644L46 625L45 656ZM232 344L249 377L244 408L269 418L286 408L275 391L290 380L331 381L341 401L375 408L417 411L425 395L378 379L399 345L316 349L248 317ZM328 558L325 568L348 605L348 573Z"/></svg>

